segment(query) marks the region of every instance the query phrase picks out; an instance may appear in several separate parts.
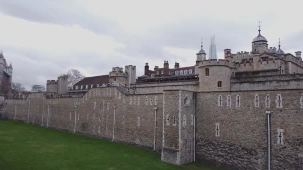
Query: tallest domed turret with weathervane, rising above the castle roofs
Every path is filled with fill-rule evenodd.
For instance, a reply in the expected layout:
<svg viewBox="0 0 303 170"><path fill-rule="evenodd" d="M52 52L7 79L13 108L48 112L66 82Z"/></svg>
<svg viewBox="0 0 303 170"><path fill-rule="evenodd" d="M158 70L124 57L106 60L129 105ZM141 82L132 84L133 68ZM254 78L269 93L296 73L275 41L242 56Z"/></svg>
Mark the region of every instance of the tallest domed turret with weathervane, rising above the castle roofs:
<svg viewBox="0 0 303 170"><path fill-rule="evenodd" d="M259 34L257 37L253 39L252 42L252 52L254 53L263 53L263 52L268 52L268 44L267 44L267 39L261 35L261 26L259 22Z"/></svg>

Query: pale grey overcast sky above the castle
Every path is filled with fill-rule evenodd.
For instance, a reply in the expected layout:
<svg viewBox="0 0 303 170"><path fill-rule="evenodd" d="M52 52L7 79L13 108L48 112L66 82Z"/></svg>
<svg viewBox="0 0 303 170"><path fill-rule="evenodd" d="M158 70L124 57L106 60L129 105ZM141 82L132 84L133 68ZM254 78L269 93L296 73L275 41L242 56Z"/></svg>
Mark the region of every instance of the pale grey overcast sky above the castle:
<svg viewBox="0 0 303 170"><path fill-rule="evenodd" d="M181 1L181 0L180 0ZM12 81L28 90L46 85L70 68L86 77L112 67L150 69L195 64L201 37L209 51L216 36L218 57L251 51L258 33L270 47L303 51L300 0L0 0L0 49L12 62Z"/></svg>

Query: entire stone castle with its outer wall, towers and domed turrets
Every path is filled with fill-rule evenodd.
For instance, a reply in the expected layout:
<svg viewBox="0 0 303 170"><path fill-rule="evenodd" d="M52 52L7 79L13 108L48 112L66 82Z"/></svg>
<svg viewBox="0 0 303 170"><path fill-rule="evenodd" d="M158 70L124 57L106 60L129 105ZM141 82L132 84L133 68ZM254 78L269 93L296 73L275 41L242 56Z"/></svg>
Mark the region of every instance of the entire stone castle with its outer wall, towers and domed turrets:
<svg viewBox="0 0 303 170"><path fill-rule="evenodd" d="M149 69L136 66L85 78L68 91L5 100L8 119L145 147L183 165L203 160L231 170L303 168L301 52L269 47L261 30L251 52L224 50L224 60ZM61 87L60 87L61 86ZM50 95L51 94L51 95ZM56 94L56 95L53 95Z"/></svg>

